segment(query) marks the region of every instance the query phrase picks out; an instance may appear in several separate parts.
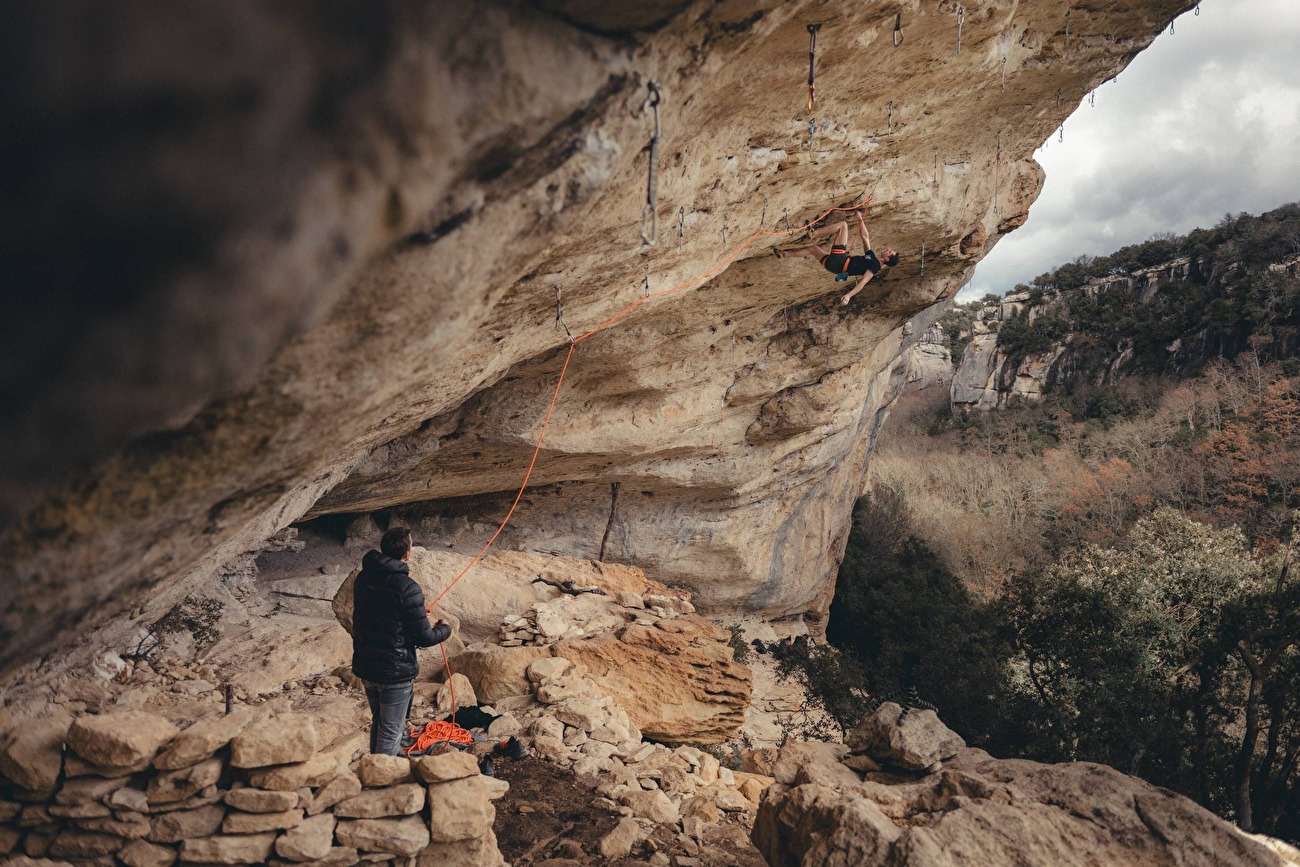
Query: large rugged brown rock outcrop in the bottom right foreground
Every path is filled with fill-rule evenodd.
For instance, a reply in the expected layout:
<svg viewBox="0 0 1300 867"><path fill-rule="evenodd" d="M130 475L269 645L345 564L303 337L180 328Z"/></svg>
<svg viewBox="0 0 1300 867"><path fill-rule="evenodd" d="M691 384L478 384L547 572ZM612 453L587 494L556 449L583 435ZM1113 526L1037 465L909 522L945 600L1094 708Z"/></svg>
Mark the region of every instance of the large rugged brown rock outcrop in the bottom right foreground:
<svg viewBox="0 0 1300 867"><path fill-rule="evenodd" d="M858 729L881 763L884 706ZM905 742L959 744L911 711ZM945 734L946 732L946 734ZM945 747L941 751L948 751ZM1277 867L1260 844L1190 799L1091 763L1039 764L958 749L930 773L867 771L833 745L793 744L763 794L753 840L771 864L1252 864ZM858 764L862 764L858 762Z"/></svg>

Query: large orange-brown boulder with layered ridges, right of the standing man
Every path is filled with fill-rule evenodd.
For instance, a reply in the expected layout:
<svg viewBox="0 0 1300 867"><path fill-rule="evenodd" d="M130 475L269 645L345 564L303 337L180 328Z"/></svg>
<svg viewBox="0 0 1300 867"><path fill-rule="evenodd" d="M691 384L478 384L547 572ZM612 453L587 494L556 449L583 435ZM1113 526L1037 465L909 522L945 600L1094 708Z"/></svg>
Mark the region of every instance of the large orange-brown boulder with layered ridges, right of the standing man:
<svg viewBox="0 0 1300 867"><path fill-rule="evenodd" d="M745 721L751 688L749 668L733 660L728 638L708 620L684 615L560 641L554 650L584 666L646 737L720 744Z"/></svg>

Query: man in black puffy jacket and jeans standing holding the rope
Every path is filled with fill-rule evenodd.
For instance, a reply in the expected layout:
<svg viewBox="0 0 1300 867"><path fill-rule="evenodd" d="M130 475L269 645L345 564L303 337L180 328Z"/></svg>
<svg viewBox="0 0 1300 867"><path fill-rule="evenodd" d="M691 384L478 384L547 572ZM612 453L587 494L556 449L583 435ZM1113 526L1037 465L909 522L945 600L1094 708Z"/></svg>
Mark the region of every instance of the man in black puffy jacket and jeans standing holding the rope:
<svg viewBox="0 0 1300 867"><path fill-rule="evenodd" d="M378 551L361 558L352 586L352 673L365 684L370 703L370 753L396 755L402 725L411 714L412 681L420 673L416 647L451 637L451 625L429 625L424 591L411 580L411 530L391 529Z"/></svg>

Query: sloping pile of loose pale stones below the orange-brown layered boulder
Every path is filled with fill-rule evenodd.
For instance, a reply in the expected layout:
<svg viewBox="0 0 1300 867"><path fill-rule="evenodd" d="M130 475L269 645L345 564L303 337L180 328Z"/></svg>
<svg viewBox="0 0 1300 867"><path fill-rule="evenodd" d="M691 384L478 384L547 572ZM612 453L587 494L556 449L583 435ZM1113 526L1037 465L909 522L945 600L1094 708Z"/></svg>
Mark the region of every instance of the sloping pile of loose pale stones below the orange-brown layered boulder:
<svg viewBox="0 0 1300 867"><path fill-rule="evenodd" d="M627 711L563 656L533 662L528 679L537 705L519 714L524 741L545 760L603 779L604 806L625 816L602 842L604 858L627 857L666 824L689 851L724 814L755 810L772 781L725 768L694 746L642 741Z"/></svg>

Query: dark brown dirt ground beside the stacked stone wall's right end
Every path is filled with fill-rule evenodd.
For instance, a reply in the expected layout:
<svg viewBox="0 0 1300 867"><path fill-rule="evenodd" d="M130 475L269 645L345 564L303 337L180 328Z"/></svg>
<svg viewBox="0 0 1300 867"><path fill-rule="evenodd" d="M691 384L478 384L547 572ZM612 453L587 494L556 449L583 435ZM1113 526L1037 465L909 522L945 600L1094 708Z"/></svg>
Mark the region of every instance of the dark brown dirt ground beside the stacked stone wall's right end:
<svg viewBox="0 0 1300 867"><path fill-rule="evenodd" d="M597 781L575 776L534 758L500 760L497 776L510 792L497 802L497 845L516 867L586 867L588 864L680 864L688 867L766 867L749 842L753 816L728 816L707 835L703 846L686 842L676 828L660 825L632 854L619 861L601 855L601 840L621 818L595 790ZM662 854L660 854L662 853Z"/></svg>

